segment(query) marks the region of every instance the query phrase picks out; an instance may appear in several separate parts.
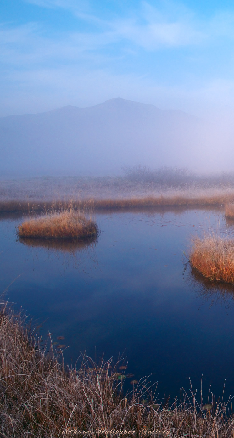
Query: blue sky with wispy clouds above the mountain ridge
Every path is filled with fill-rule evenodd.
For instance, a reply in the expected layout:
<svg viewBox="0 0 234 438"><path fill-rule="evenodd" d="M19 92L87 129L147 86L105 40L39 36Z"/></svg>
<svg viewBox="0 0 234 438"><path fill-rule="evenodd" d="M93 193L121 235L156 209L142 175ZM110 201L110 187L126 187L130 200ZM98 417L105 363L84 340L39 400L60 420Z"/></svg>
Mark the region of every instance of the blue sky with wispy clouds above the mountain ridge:
<svg viewBox="0 0 234 438"><path fill-rule="evenodd" d="M234 111L230 1L4 0L0 115L122 97Z"/></svg>

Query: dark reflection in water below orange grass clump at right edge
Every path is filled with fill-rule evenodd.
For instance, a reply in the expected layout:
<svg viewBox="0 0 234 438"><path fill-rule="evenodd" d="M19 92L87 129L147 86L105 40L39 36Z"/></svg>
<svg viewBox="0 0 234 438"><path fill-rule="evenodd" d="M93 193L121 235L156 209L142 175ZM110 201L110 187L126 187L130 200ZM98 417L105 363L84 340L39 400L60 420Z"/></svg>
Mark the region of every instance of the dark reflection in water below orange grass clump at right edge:
<svg viewBox="0 0 234 438"><path fill-rule="evenodd" d="M234 286L229 283L211 281L202 276L195 268L189 268L188 285L195 290L197 297L202 297L210 307L216 304L224 304L231 308L234 305Z"/></svg>

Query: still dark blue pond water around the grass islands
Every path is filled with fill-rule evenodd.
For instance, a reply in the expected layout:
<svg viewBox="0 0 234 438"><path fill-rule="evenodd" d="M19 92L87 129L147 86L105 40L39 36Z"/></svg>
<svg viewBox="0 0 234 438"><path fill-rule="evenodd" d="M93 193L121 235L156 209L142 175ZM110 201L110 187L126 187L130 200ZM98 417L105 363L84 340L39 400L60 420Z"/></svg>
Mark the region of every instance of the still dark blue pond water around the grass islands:
<svg viewBox="0 0 234 438"><path fill-rule="evenodd" d="M0 215L0 289L42 334L64 336L66 362L85 350L97 361L121 353L134 379L153 373L160 397L179 395L189 378L198 392L202 378L204 398L210 384L222 396L225 379L225 399L234 395L233 288L183 274L182 260L191 235L232 233L222 212L99 213L96 243L62 246L17 241L22 219Z"/></svg>

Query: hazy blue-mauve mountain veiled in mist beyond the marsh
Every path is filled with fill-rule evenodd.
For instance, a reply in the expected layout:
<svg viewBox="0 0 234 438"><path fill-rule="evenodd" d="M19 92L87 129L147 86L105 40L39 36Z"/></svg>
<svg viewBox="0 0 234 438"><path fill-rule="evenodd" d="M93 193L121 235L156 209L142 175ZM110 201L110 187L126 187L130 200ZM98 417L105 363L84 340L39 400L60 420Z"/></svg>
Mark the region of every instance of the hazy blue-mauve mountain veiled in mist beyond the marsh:
<svg viewBox="0 0 234 438"><path fill-rule="evenodd" d="M1 178L106 176L138 163L232 170L232 128L178 110L111 99L0 119Z"/></svg>

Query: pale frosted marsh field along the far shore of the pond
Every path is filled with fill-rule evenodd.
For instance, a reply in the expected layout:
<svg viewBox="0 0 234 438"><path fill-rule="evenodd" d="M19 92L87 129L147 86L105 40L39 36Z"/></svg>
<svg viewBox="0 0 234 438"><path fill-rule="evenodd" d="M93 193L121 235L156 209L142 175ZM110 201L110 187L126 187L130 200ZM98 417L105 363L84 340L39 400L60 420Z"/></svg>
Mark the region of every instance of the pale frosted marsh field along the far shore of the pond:
<svg viewBox="0 0 234 438"><path fill-rule="evenodd" d="M0 211L42 210L73 200L95 208L223 205L234 202L234 174L198 175L187 169L125 167L123 176L41 177L0 181Z"/></svg>

